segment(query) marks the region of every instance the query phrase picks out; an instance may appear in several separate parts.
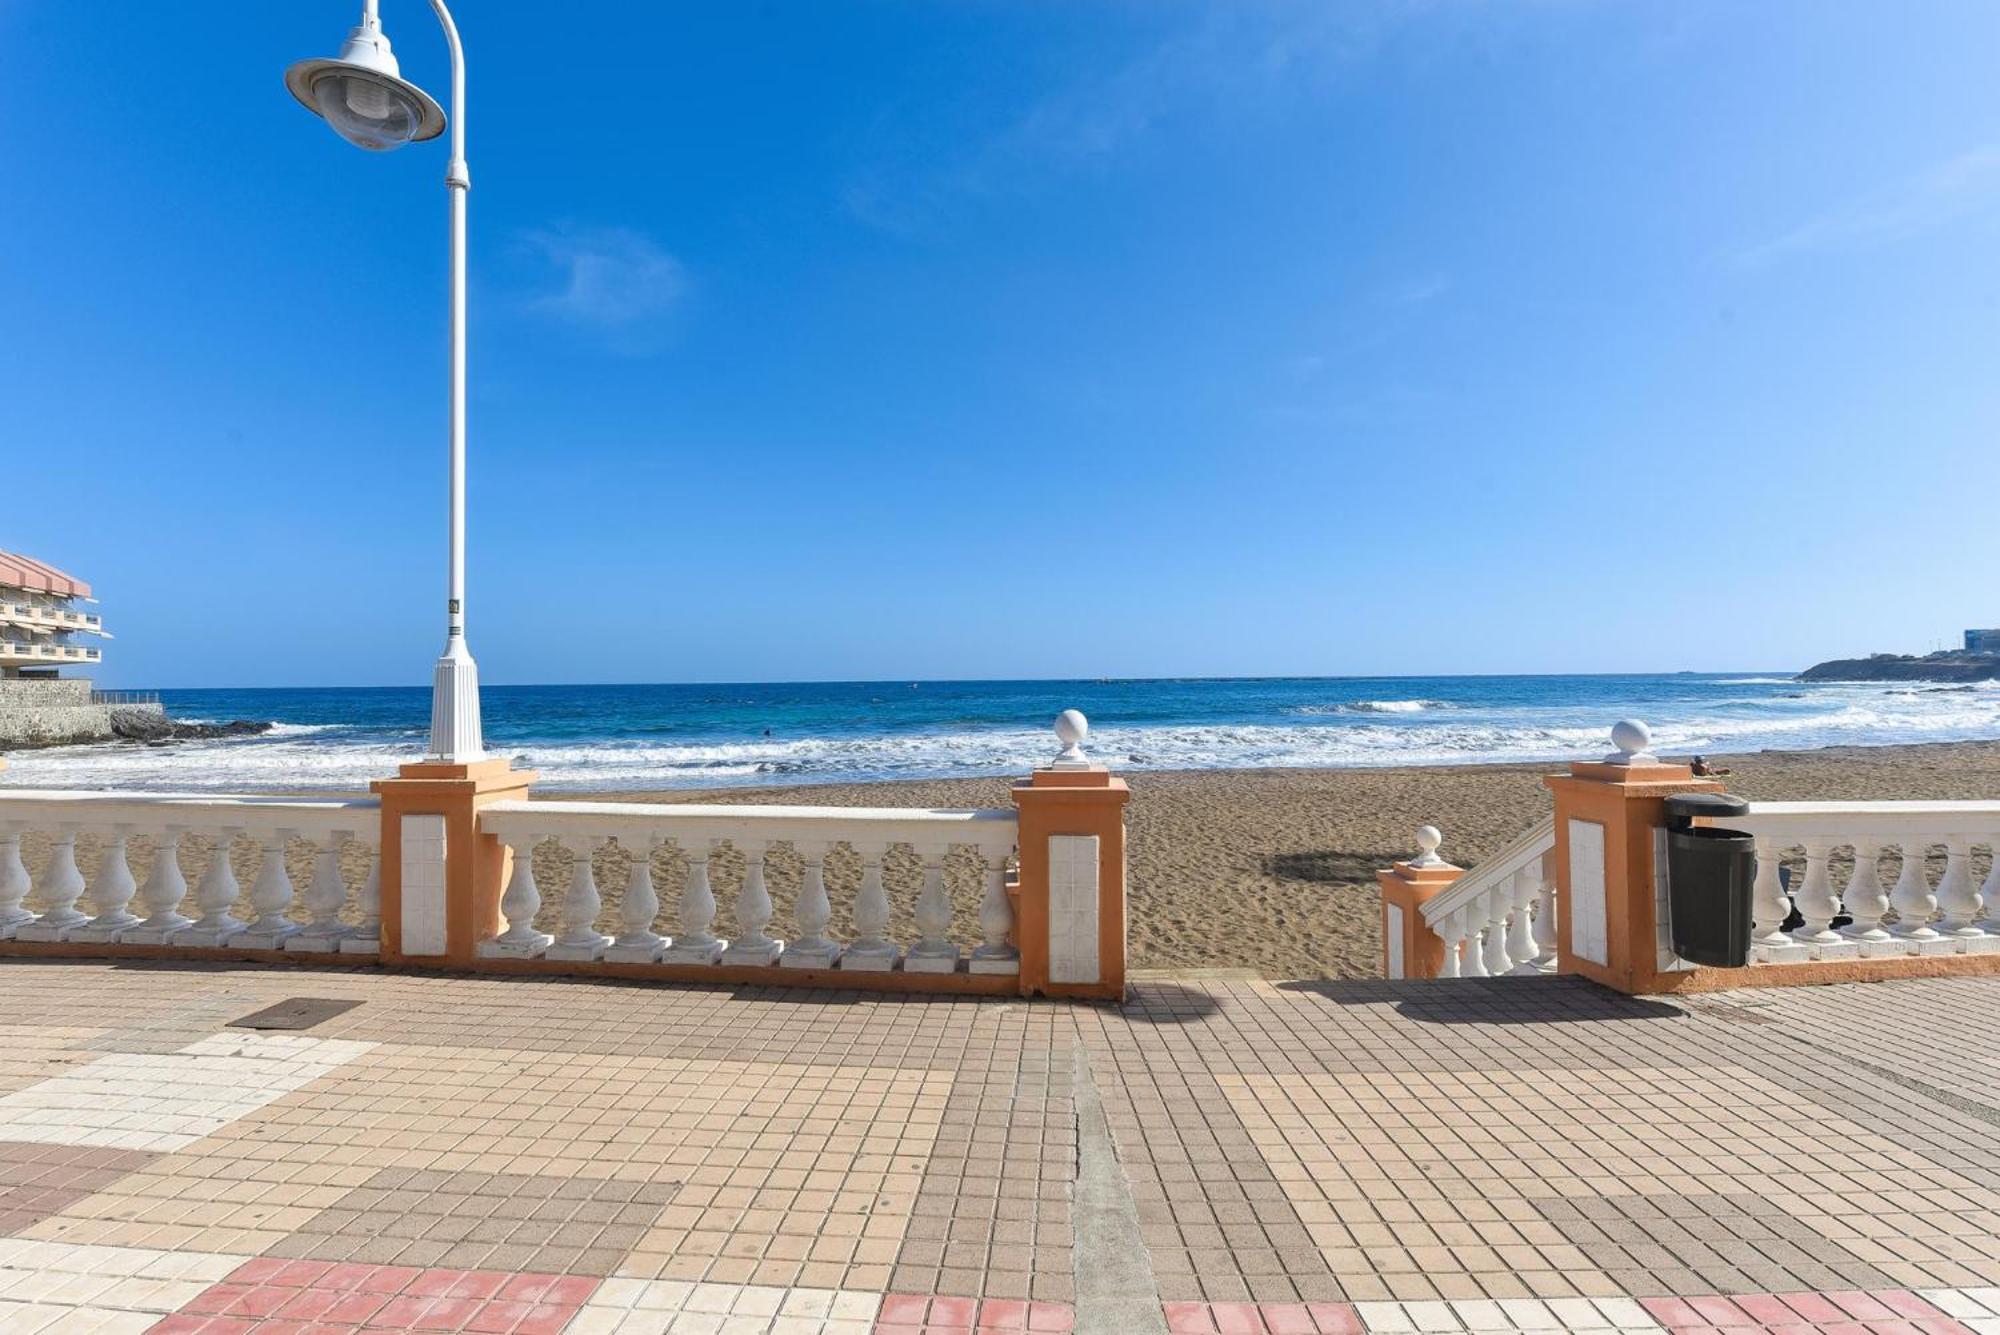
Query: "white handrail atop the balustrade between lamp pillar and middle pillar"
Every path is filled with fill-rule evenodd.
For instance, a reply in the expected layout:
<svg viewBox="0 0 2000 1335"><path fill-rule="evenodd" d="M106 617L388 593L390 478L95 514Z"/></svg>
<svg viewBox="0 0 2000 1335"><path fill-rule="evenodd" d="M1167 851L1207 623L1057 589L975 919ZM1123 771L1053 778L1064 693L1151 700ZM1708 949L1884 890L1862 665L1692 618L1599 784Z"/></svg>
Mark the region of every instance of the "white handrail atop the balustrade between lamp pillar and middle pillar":
<svg viewBox="0 0 2000 1335"><path fill-rule="evenodd" d="M656 801L494 801L480 829L506 837L612 837L620 831L690 839L976 845L1006 851L1018 837L1008 809L780 807Z"/></svg>

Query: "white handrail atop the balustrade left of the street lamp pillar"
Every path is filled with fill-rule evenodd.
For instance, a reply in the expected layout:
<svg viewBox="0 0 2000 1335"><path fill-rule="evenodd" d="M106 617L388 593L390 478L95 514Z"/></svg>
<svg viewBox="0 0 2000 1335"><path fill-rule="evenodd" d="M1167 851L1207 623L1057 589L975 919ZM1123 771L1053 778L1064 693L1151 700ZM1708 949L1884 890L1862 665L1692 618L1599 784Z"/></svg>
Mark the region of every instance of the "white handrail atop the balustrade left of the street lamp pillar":
<svg viewBox="0 0 2000 1335"><path fill-rule="evenodd" d="M378 813L380 801L374 797L0 789L0 825L58 823L94 831L222 827L254 835L286 829L300 837L350 833L374 843Z"/></svg>

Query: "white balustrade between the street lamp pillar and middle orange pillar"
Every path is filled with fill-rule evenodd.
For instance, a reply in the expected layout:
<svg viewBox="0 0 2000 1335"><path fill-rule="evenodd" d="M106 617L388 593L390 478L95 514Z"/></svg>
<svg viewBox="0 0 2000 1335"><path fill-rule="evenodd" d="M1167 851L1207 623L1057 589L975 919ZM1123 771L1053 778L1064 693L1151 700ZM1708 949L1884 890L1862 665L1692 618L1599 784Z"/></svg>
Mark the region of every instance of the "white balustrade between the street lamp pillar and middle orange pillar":
<svg viewBox="0 0 2000 1335"><path fill-rule="evenodd" d="M616 941L602 947L606 959L620 959L618 951L630 945L638 959L694 965L844 971L900 967L908 973L1020 971L1020 955L1010 943L1014 905L1006 887L1006 867L1018 837L1012 811L494 801L480 809L480 829L514 851L514 871L500 901L508 929L478 945L488 957L564 959L568 955L558 951L572 935L578 943L586 933L602 939L598 933L602 903L588 857L572 859L560 937L550 943L534 933L540 889L532 861L534 847L546 839L560 839L572 849L586 841L596 847L616 839L620 847L632 851L634 863L618 905L622 931ZM650 853L666 843L678 847L686 859L686 877L670 909L676 919L672 937L656 931L660 897L650 879ZM846 943L828 935L834 909L826 887L828 853L842 845L860 859L860 883L852 901L854 939ZM712 861L724 847L742 859L742 877L732 899L736 919L732 941L714 933L718 903ZM788 847L800 867L794 899L798 935L790 943L768 933L774 917L772 879L778 875L770 867L770 851L776 847ZM918 939L908 953L890 939L894 913L884 877L884 859L898 847L912 849L922 865L922 885L910 903ZM982 939L970 959L966 943L952 939L956 905L946 871L954 849L970 849L976 855L984 885L978 901ZM578 881L584 883L582 889Z"/></svg>

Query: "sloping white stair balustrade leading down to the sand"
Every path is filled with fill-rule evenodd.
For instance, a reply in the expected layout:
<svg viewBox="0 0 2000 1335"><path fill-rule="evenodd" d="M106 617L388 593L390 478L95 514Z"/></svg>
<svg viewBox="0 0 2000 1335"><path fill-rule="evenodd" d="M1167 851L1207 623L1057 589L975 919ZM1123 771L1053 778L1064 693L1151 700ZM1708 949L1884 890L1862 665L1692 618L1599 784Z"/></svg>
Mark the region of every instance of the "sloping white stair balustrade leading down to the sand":
<svg viewBox="0 0 2000 1335"><path fill-rule="evenodd" d="M1412 867L1450 867L1434 825L1416 833ZM1542 819L1492 859L1424 903L1424 923L1444 941L1438 977L1508 977L1556 967L1556 823Z"/></svg>

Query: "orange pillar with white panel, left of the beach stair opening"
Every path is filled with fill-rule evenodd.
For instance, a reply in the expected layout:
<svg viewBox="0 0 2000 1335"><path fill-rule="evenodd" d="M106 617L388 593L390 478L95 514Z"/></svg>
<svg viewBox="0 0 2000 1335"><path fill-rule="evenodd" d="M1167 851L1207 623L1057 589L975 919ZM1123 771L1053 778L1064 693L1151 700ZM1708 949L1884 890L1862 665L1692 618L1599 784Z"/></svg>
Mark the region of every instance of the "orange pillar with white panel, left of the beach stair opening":
<svg viewBox="0 0 2000 1335"><path fill-rule="evenodd" d="M1124 779L1080 759L1036 769L1014 785L1020 813L1014 943L1024 997L1124 997L1130 799Z"/></svg>

